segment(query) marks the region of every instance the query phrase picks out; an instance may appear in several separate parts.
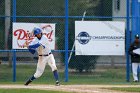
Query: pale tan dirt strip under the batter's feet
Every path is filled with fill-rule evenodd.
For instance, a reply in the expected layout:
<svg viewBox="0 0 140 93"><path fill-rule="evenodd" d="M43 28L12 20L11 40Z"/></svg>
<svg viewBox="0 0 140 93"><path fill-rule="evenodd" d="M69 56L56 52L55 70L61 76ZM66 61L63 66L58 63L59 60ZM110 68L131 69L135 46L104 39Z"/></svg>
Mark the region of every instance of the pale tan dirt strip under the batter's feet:
<svg viewBox="0 0 140 93"><path fill-rule="evenodd" d="M56 90L65 91L72 93L130 93L130 92L119 92L114 90L108 90L105 88L111 87L140 87L140 85L47 85L47 84L31 84L29 86L24 86L21 84L0 84L0 89L39 89L39 90ZM132 93L132 92L131 92ZM136 93L136 92L135 92Z"/></svg>

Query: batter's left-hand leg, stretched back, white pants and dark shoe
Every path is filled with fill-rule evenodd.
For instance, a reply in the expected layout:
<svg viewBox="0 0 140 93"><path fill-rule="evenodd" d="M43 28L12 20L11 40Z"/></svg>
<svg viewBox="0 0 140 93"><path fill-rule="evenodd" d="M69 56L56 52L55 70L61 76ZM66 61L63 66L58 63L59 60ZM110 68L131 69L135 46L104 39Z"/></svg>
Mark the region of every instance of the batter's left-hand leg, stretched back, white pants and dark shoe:
<svg viewBox="0 0 140 93"><path fill-rule="evenodd" d="M39 57L35 74L31 78L29 78L24 85L28 85L36 78L39 78L43 74L45 66L46 66L46 62L44 62L44 58Z"/></svg>

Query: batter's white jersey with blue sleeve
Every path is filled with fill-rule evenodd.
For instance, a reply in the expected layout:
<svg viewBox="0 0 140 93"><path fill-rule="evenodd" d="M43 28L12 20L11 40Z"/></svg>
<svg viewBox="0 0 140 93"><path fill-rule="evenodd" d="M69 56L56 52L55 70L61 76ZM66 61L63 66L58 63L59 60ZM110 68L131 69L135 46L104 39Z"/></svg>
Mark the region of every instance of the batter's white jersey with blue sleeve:
<svg viewBox="0 0 140 93"><path fill-rule="evenodd" d="M29 49L36 50L38 55L46 55L51 52L48 38L45 35L42 35L40 40L35 37L29 44Z"/></svg>

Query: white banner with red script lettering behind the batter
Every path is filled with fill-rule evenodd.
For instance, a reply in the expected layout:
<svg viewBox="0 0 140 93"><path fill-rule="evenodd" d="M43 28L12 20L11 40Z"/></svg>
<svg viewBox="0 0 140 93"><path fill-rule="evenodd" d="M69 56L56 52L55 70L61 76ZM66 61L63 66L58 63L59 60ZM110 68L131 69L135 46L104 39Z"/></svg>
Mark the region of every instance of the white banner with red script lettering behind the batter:
<svg viewBox="0 0 140 93"><path fill-rule="evenodd" d="M35 37L33 35L34 28L41 28L43 34L49 39L51 49L55 49L55 24L53 23L13 23L13 49L27 49L21 48L23 44L28 41L31 42Z"/></svg>

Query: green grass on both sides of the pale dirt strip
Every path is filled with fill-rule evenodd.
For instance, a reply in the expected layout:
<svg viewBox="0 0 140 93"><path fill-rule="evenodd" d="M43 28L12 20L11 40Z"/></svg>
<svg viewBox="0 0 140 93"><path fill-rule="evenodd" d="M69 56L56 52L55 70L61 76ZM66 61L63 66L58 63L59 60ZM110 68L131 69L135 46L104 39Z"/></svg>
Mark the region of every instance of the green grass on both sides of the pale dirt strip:
<svg viewBox="0 0 140 93"><path fill-rule="evenodd" d="M64 68L59 68L60 82L62 85L139 85L140 83L126 82L125 68L99 69L93 72L69 72L69 81L65 82ZM1 84L24 84L36 70L36 65L17 65L16 82L12 82L12 68L8 65L0 65L0 83ZM32 84L54 85L55 81L51 69L47 66L43 75L32 82ZM140 92L138 88L109 88L111 90ZM22 91L20 91L22 90ZM0 93L33 93L32 89L0 89ZM27 92L29 91L29 92ZM38 93L60 93L59 91L35 90ZM66 93L66 92L61 92Z"/></svg>

